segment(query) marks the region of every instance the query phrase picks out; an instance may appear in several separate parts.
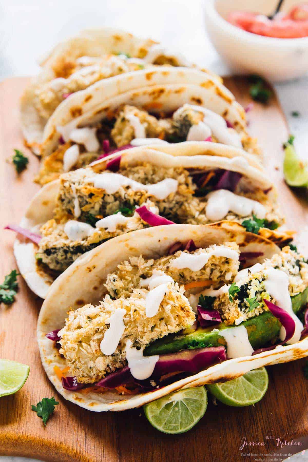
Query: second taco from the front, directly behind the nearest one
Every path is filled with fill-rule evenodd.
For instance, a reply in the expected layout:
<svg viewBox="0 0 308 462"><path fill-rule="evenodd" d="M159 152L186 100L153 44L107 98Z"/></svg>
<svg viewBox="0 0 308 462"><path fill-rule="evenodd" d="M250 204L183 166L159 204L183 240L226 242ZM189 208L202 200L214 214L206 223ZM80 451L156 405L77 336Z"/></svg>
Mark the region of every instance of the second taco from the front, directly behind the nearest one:
<svg viewBox="0 0 308 462"><path fill-rule="evenodd" d="M12 227L26 237L39 233L34 243L18 239L14 246L20 272L37 295L44 298L50 282L85 252L149 226L227 219L280 246L290 242L289 233L273 231L284 218L276 190L254 158L219 143L177 146L178 156L171 145L166 152L123 150L62 174L38 192L20 224L24 230Z"/></svg>

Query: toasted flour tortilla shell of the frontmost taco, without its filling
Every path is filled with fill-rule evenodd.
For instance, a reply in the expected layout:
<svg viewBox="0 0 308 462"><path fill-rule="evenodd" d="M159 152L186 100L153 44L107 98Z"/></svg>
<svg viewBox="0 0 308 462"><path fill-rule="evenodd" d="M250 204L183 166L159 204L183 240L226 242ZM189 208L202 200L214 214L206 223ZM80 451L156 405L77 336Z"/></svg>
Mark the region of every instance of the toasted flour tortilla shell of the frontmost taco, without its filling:
<svg viewBox="0 0 308 462"><path fill-rule="evenodd" d="M294 345L253 357L229 359L162 389L138 395L127 397L112 390L103 394L89 392L85 395L63 389L54 373L54 366L63 369L66 367L66 362L60 357L54 342L48 340L45 334L63 327L69 309L76 310L88 303L98 304L106 292L103 284L107 275L114 272L121 261L138 255L143 255L145 258L159 258L166 255L169 247L176 241L186 243L189 239L193 239L197 247L236 241L243 251L264 252L263 257L259 257L254 262L261 262L279 251L274 243L258 235L247 233L240 225L232 222L213 225L157 226L115 237L112 242L103 243L91 250L78 262L73 263L54 282L38 318L37 337L42 364L60 395L91 411L123 411L142 406L185 387L231 380L252 369L308 356L308 339L305 339Z"/></svg>

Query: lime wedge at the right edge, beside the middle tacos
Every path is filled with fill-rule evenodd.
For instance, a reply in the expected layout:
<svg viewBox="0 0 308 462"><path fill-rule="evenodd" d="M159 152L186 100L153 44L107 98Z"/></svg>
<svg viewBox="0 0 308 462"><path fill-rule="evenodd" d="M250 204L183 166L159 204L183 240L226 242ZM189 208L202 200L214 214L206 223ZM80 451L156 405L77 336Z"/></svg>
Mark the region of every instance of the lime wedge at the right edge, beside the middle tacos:
<svg viewBox="0 0 308 462"><path fill-rule="evenodd" d="M284 178L290 186L308 186L308 166L290 143L284 148Z"/></svg>

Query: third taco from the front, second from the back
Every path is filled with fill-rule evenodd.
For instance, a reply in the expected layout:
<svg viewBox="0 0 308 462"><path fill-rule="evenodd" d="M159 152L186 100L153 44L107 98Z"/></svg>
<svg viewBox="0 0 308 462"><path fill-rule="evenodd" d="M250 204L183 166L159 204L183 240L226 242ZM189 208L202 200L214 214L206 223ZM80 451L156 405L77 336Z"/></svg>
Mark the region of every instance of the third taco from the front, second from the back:
<svg viewBox="0 0 308 462"><path fill-rule="evenodd" d="M128 146L209 140L259 153L245 111L211 76L158 67L97 82L63 101L49 118L36 182L85 167Z"/></svg>

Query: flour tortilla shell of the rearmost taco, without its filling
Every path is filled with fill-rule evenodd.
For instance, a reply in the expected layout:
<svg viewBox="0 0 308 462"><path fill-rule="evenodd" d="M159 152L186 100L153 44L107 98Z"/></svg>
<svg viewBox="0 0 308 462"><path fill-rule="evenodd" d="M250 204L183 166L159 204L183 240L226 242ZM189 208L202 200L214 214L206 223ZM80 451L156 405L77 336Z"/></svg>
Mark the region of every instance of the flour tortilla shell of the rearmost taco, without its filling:
<svg viewBox="0 0 308 462"><path fill-rule="evenodd" d="M31 79L21 98L21 126L25 140L32 150L40 153L43 129L46 119L41 117L36 110L34 100L37 88L59 76L59 69L65 68L66 64L74 62L81 56L103 57L104 55L117 55L124 53L133 57L144 58L153 45L158 43L151 39L144 39L128 32L112 29L91 29L82 30L77 36L71 37L54 47L40 64L41 72ZM162 53L175 66L194 65L185 58L175 55L172 52ZM208 71L205 71L208 72ZM213 75L213 79L219 82L221 79Z"/></svg>

